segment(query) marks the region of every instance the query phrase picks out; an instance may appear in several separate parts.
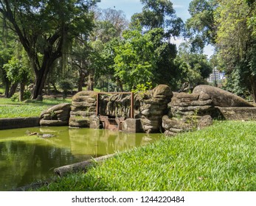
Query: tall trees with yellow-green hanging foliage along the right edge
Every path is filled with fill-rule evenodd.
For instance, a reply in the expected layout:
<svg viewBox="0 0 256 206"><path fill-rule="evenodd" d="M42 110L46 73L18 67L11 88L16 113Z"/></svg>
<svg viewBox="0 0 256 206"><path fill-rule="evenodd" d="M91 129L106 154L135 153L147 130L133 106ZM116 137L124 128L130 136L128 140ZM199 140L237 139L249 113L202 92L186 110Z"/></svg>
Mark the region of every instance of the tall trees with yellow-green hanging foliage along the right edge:
<svg viewBox="0 0 256 206"><path fill-rule="evenodd" d="M186 27L194 48L215 46L218 64L225 72L225 88L256 100L256 35L253 0L193 0Z"/></svg>

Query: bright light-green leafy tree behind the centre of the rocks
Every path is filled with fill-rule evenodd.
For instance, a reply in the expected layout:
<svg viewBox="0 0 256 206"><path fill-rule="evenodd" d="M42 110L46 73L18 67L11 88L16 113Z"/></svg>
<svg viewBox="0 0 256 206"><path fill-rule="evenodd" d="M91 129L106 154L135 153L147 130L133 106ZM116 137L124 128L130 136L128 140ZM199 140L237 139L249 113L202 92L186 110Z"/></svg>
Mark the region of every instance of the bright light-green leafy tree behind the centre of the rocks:
<svg viewBox="0 0 256 206"><path fill-rule="evenodd" d="M136 85L151 82L156 60L153 58L153 43L149 35L134 30L125 32L123 38L123 43L116 48L114 76L131 90Z"/></svg>

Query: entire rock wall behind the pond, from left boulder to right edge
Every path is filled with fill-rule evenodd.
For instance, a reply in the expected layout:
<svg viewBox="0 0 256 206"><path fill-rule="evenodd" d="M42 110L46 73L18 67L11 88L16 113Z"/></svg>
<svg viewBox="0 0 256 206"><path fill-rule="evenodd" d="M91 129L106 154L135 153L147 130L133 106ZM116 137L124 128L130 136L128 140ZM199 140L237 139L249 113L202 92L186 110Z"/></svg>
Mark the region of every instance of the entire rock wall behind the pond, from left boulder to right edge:
<svg viewBox="0 0 256 206"><path fill-rule="evenodd" d="M228 104L233 107L226 107ZM73 96L71 105L59 104L42 113L40 124L176 135L207 127L216 117L256 119L256 107L209 85L199 85L193 93L173 93L167 85L158 85L153 90L134 94L134 118L131 115L131 93L82 91Z"/></svg>

